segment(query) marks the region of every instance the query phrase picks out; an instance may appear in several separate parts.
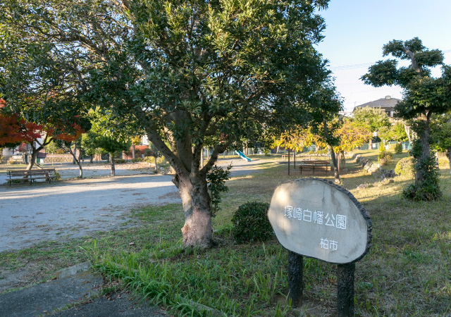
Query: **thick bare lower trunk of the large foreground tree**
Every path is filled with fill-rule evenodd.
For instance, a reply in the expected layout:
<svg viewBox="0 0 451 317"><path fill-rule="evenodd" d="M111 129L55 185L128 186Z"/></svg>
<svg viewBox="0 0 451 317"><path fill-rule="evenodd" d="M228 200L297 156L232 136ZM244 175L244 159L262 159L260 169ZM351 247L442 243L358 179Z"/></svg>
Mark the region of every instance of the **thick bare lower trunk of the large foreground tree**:
<svg viewBox="0 0 451 317"><path fill-rule="evenodd" d="M184 247L212 246L210 196L206 180L200 176L175 174L173 183L182 198L185 225L182 228Z"/></svg>

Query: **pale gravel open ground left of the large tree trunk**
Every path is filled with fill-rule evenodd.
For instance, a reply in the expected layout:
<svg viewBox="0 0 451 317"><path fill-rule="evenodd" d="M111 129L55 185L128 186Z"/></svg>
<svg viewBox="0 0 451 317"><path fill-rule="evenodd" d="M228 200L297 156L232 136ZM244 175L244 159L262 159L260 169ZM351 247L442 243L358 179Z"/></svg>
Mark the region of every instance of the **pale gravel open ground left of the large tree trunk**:
<svg viewBox="0 0 451 317"><path fill-rule="evenodd" d="M266 161L218 161L220 166L230 163L233 175L243 175L256 172ZM0 252L120 228L133 207L180 202L172 176L154 175L145 163L119 164L115 178L108 177L109 165L85 164L82 180L68 180L78 176L78 166L54 168L66 181L0 186ZM0 184L4 182L6 175L0 175Z"/></svg>

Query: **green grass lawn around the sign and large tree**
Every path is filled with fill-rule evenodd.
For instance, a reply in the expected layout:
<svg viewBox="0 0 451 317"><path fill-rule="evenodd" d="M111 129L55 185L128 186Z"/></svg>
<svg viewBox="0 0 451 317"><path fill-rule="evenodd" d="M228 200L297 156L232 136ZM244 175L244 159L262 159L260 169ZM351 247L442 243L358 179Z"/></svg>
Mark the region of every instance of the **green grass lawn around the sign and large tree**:
<svg viewBox="0 0 451 317"><path fill-rule="evenodd" d="M377 156L377 151L362 152L370 159ZM404 156L395 155L388 168ZM401 194L412 179L376 181L354 160L347 161L342 186L362 203L373 223L369 254L356 265L356 316L450 316L451 176L446 160L440 161L440 167L443 199L413 202ZM327 178L332 179L331 174ZM181 247L180 205L147 206L133 212L142 222L139 228L3 252L0 275L34 268L28 282L38 282L89 257L104 275L166 306L174 316L204 316L199 311L205 307L213 313L222 311L222 316L332 316L334 265L304 259L306 306L290 309L287 251L275 238L236 244L230 233L238 206L246 201L268 202L278 184L298 177L299 172L288 176L286 164L274 161L266 163L261 173L228 181L229 192L213 220L218 245L211 250ZM370 185L357 189L362 183Z"/></svg>

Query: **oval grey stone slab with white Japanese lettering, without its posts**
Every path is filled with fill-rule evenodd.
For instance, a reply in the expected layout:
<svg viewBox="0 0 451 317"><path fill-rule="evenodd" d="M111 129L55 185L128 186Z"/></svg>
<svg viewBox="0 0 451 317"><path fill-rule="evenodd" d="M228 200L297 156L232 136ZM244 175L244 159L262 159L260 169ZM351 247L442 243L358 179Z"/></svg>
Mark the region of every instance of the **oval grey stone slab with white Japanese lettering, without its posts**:
<svg viewBox="0 0 451 317"><path fill-rule="evenodd" d="M268 218L280 244L329 263L366 254L371 222L357 200L326 180L301 178L276 188Z"/></svg>

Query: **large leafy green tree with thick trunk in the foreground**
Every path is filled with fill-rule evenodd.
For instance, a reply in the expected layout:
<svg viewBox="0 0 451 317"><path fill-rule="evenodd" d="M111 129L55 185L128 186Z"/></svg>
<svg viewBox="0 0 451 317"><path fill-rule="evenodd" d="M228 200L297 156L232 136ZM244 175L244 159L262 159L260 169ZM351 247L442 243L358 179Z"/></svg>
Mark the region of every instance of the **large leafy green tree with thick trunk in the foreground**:
<svg viewBox="0 0 451 317"><path fill-rule="evenodd" d="M254 142L267 130L276 134L307 121L304 99L328 74L314 49L325 27L317 9L327 4L6 0L0 23L6 41L45 46L49 54L35 62L68 72L67 88L78 89L78 100L113 120L132 117L175 170L184 246L210 247L206 174L243 136ZM204 141L212 136L221 142L201 167Z"/></svg>

